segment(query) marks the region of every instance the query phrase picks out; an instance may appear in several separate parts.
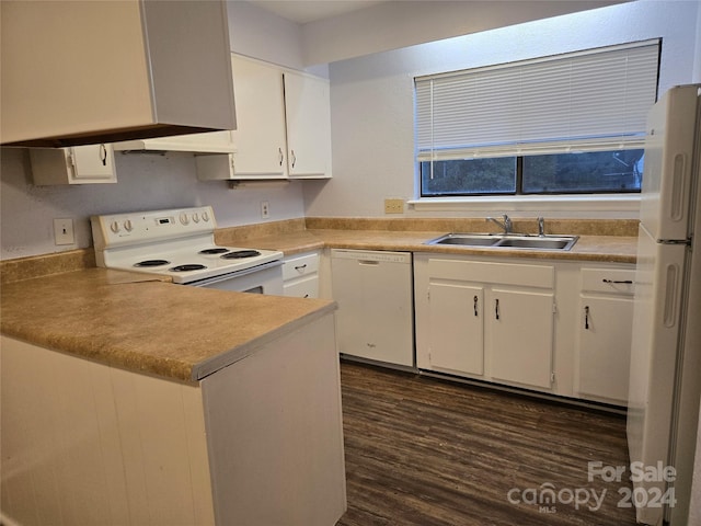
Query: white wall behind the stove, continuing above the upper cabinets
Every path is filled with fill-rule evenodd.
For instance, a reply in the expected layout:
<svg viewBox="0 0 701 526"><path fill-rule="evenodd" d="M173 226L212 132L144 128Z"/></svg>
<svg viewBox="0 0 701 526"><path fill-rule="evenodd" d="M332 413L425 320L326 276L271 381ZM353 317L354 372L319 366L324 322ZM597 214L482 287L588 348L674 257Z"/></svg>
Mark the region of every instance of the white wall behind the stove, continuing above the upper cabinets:
<svg viewBox="0 0 701 526"><path fill-rule="evenodd" d="M231 49L301 69L300 26L248 2L230 1ZM24 149L0 153L0 259L92 245L90 215L212 205L219 226L261 222L261 201L269 221L303 216L302 183L229 190L219 181L199 182L192 156L116 156L117 184L34 186ZM54 244L54 218L72 218L76 244Z"/></svg>

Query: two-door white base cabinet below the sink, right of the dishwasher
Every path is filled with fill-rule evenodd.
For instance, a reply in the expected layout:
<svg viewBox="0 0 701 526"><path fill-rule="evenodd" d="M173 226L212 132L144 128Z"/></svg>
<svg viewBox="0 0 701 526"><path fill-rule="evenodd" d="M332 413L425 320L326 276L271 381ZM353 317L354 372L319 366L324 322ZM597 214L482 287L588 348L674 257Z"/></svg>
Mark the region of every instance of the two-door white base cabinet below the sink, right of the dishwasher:
<svg viewBox="0 0 701 526"><path fill-rule="evenodd" d="M418 368L550 390L554 266L415 254Z"/></svg>

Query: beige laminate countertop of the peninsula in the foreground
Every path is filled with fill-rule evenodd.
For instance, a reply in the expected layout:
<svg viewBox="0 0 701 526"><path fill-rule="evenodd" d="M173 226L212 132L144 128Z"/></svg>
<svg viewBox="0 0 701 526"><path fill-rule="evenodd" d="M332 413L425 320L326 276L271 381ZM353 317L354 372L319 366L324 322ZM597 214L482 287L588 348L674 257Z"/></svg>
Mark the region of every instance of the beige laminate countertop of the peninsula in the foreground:
<svg viewBox="0 0 701 526"><path fill-rule="evenodd" d="M128 370L197 381L336 308L87 268L3 284L2 334Z"/></svg>

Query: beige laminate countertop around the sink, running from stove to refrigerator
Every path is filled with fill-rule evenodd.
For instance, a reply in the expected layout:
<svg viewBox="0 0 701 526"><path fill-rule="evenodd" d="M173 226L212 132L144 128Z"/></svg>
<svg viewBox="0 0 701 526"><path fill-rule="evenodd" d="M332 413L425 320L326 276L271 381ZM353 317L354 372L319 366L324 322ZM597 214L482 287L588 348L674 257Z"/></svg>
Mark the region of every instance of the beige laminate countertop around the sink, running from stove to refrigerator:
<svg viewBox="0 0 701 526"><path fill-rule="evenodd" d="M635 263L637 238L629 236L581 236L568 251L489 249L478 247L427 245L427 240L447 232L389 230L302 230L249 240L258 249L281 250L285 255L323 249L394 250L481 256L535 258L548 260Z"/></svg>

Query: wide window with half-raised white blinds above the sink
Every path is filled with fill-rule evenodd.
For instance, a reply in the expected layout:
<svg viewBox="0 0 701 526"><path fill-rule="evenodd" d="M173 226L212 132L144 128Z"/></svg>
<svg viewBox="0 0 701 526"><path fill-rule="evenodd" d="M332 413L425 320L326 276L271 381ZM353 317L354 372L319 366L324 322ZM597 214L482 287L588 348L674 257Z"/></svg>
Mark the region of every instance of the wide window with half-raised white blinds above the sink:
<svg viewBox="0 0 701 526"><path fill-rule="evenodd" d="M659 46L416 78L421 196L640 192Z"/></svg>

